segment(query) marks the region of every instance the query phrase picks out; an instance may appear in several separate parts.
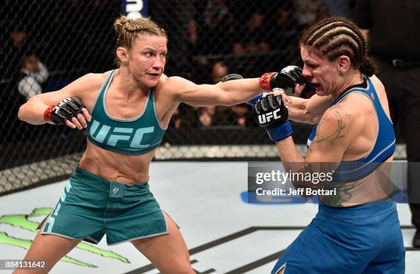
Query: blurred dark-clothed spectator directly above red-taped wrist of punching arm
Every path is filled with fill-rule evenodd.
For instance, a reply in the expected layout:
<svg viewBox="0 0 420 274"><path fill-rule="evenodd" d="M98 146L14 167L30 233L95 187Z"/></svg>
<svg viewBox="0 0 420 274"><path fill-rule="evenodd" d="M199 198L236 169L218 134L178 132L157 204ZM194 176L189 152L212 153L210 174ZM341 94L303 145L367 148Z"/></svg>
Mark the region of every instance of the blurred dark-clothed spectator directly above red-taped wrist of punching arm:
<svg viewBox="0 0 420 274"><path fill-rule="evenodd" d="M264 15L257 11L250 15L233 42L233 54L261 54L269 49L267 31L264 30Z"/></svg>

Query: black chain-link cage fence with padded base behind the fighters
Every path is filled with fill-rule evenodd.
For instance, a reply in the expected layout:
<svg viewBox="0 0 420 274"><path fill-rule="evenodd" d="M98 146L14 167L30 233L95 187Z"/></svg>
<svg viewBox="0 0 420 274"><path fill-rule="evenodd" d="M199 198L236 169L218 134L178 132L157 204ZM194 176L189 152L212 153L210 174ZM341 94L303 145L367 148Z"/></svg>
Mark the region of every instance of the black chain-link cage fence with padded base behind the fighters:
<svg viewBox="0 0 420 274"><path fill-rule="evenodd" d="M349 16L352 5L351 0L150 0L148 14L169 37L165 73L212 84L226 73L255 78L301 65L301 30L326 16ZM65 176L80 159L84 133L26 124L17 112L33 95L115 68L113 21L120 13L119 0L3 0L0 193ZM294 130L303 151L310 126L294 123ZM398 153L404 158L404 147ZM274 157L276 148L253 121L250 106L181 104L155 159Z"/></svg>

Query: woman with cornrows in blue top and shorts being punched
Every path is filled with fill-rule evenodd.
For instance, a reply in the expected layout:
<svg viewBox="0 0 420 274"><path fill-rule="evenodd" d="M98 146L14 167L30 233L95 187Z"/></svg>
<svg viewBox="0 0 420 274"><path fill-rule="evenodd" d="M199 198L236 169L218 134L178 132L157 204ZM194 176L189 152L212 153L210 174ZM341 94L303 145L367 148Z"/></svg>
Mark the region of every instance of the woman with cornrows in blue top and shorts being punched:
<svg viewBox="0 0 420 274"><path fill-rule="evenodd" d="M405 249L387 180L395 134L384 85L373 75L366 41L351 21L330 18L306 30L300 47L303 71L292 68L288 73L303 76L316 95L309 100L293 98L288 109L281 99L268 95L255 104L255 115L276 142L286 170L334 171L332 184L297 181L296 187L335 187L337 192L319 196L318 214L272 273L402 274ZM317 123L305 157L294 145L288 115ZM274 119L267 122L268 116Z"/></svg>

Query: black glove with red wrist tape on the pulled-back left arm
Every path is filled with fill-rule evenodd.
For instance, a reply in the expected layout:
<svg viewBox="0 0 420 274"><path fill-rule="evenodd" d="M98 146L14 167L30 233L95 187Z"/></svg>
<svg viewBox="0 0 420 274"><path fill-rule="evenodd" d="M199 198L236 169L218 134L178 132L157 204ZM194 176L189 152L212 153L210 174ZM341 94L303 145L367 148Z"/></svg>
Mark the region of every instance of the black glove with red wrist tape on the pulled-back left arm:
<svg viewBox="0 0 420 274"><path fill-rule="evenodd" d="M57 106L49 106L44 112L45 121L52 121L54 124L65 124L68 119L76 117L82 113L86 106L77 98L69 97L58 103Z"/></svg>

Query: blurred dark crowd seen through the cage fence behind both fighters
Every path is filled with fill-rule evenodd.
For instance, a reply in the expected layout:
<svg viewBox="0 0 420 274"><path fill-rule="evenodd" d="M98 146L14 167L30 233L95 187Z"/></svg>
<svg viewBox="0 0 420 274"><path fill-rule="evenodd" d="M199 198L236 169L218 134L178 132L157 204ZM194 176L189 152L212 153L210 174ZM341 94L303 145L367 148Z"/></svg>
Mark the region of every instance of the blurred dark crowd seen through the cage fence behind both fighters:
<svg viewBox="0 0 420 274"><path fill-rule="evenodd" d="M0 24L7 30L1 38L0 85L3 95L12 94L5 102L12 113L32 96L60 89L82 73L115 67L112 23L121 1L58 0L62 8L47 0L5 1L15 13L0 10ZM258 77L286 65L301 65L297 47L301 30L327 16L350 16L353 1L161 0L149 4L149 15L163 25L170 39L167 74L215 84L227 73ZM169 8L183 16L164 14ZM12 121L9 113L3 111L1 118ZM229 108L182 104L170 126L244 127L255 122L245 104Z"/></svg>

